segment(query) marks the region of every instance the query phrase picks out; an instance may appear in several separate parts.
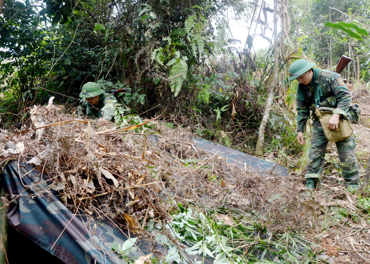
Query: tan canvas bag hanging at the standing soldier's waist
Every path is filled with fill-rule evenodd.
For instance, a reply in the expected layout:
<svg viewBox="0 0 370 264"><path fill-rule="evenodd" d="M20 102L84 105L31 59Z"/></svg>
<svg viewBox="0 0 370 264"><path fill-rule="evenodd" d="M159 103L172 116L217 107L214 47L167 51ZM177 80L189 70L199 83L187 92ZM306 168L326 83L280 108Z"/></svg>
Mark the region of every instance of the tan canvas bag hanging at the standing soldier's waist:
<svg viewBox="0 0 370 264"><path fill-rule="evenodd" d="M324 134L329 141L338 142L343 141L353 134L353 127L349 119L339 119L338 129L332 130L327 127L330 118L333 116L334 108L320 107L316 108L315 114L323 127Z"/></svg>

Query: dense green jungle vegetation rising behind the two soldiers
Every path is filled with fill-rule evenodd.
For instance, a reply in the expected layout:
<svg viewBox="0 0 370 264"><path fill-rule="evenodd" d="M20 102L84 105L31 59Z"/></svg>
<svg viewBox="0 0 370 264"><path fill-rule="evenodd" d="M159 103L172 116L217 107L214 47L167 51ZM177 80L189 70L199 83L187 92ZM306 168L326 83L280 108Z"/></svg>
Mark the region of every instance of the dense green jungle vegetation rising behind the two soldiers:
<svg viewBox="0 0 370 264"><path fill-rule="evenodd" d="M203 138L253 154L272 90L264 152L298 153L292 121L296 82L287 82L291 59L307 57L334 69L344 54L354 60L342 75L349 83L370 84L369 37L354 29L368 29L370 3L280 1L276 41L273 4L5 0L0 9L2 126L23 125L27 108L50 96L73 111L81 86L95 81L107 90L132 89L123 97L126 114L145 112L141 116L149 118L165 110L162 118L169 126L190 126ZM233 38L231 20L248 29L244 39ZM324 26L342 21L352 26ZM268 48L258 47L260 35ZM270 89L274 61L278 78Z"/></svg>

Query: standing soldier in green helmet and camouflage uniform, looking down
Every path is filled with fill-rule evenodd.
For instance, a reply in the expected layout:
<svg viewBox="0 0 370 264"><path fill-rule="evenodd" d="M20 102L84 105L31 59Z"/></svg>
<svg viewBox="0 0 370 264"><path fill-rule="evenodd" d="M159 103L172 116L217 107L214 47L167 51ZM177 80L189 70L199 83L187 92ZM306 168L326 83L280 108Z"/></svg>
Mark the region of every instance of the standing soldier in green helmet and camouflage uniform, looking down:
<svg viewBox="0 0 370 264"><path fill-rule="evenodd" d="M328 123L329 129L337 129L339 118L351 120L349 107L351 104L351 93L344 84L339 74L329 70L312 68L314 63L300 59L289 67L289 81L297 79L297 140L301 145L306 141L303 139L306 122L310 117L310 110L313 118L313 131L311 135L311 148L307 162L306 188L314 189L314 179L320 178L324 164L326 146L328 143L324 135L323 127L315 115L315 107L326 106L335 108L333 116ZM355 141L353 135L349 139L336 142L339 160L342 166L342 175L347 188L357 188L359 182L359 166L354 153Z"/></svg>

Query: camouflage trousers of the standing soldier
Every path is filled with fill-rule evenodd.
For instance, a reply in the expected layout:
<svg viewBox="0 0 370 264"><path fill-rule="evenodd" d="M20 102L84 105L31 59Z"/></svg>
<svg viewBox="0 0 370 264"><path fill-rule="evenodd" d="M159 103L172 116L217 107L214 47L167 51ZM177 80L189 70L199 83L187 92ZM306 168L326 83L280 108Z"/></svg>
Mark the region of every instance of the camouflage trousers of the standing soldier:
<svg viewBox="0 0 370 264"><path fill-rule="evenodd" d="M329 141L324 135L324 130L319 121L313 121L311 135L311 148L305 178L320 178L320 173L324 165L326 146ZM357 183L360 180L359 165L357 165L354 155L354 136L349 139L335 143L338 150L340 166L344 182L348 184Z"/></svg>

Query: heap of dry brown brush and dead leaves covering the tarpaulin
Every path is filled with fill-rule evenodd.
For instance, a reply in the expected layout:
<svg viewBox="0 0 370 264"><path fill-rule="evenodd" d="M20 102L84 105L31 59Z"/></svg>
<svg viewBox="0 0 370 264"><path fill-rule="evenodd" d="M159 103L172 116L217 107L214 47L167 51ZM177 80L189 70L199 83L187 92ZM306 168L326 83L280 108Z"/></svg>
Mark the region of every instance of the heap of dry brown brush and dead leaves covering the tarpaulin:
<svg viewBox="0 0 370 264"><path fill-rule="evenodd" d="M32 159L71 211L79 207L133 231L148 217L168 219L186 202L258 212L270 230L309 228L316 217L319 205L305 199L300 182L230 165L193 145L184 129L151 121L153 141L135 133L138 126L118 129L64 112L63 106L34 106L30 127L0 130L0 164Z"/></svg>

